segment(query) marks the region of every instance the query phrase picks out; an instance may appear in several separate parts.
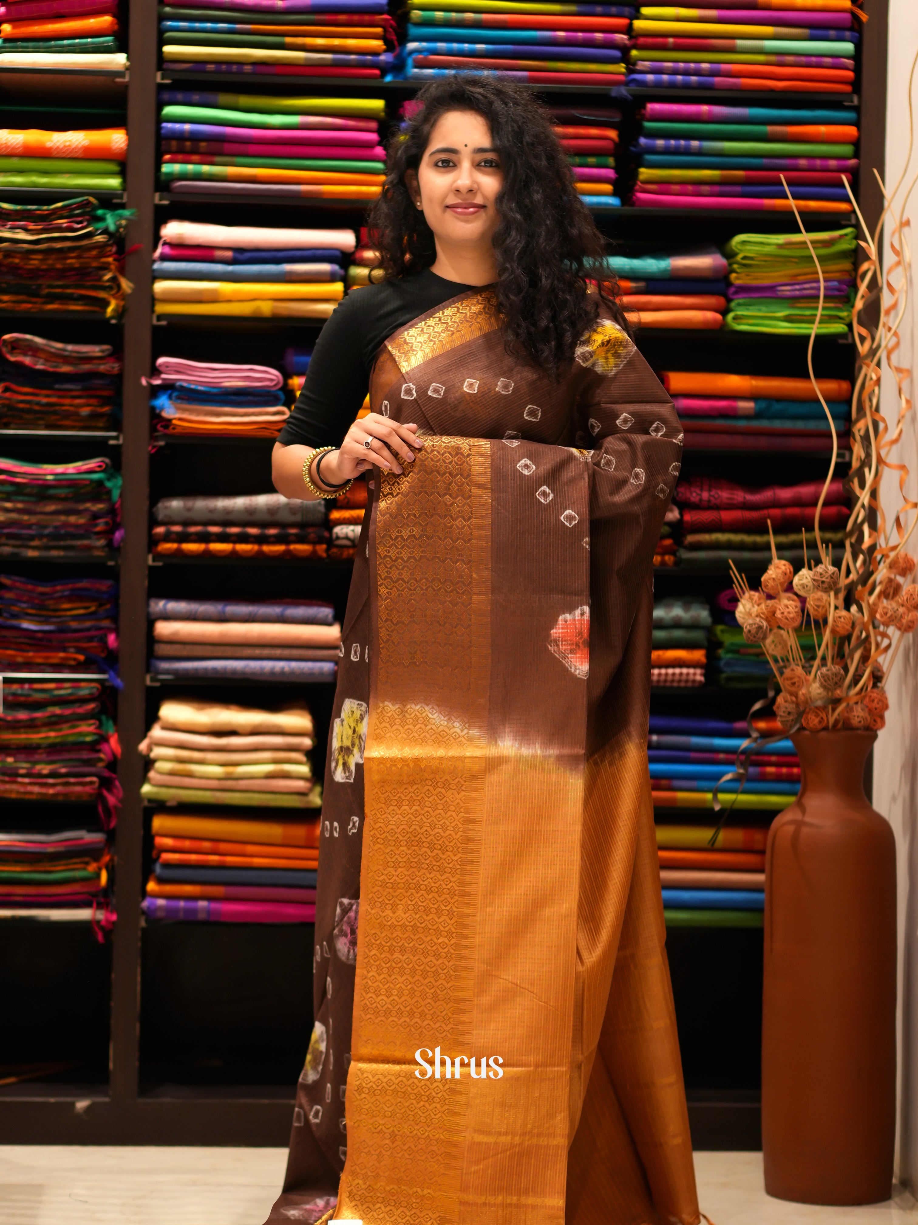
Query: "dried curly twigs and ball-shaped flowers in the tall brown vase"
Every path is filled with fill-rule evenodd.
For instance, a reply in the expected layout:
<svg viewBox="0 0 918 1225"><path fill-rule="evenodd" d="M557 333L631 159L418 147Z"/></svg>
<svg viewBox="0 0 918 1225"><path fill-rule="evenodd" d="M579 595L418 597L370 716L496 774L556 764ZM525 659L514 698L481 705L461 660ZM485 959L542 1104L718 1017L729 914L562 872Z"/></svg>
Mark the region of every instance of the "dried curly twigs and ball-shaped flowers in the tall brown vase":
<svg viewBox="0 0 918 1225"><path fill-rule="evenodd" d="M908 81L909 143L906 169L891 192L886 191L876 175L885 208L873 234L864 224L847 179L842 178L864 234L859 245L865 258L858 268L852 309L852 328L858 352L851 405L852 459L847 479L852 511L845 533L845 552L838 565L832 564L831 550L824 548L819 534L819 516L838 453L832 418L813 372L813 344L824 298L823 270L785 183L800 233L810 247L819 273L819 310L810 332L808 365L816 396L829 418L832 459L816 507L819 556L815 565L804 565L794 573L789 562L778 559L772 535L772 561L758 588L752 589L732 564L731 571L733 587L739 597L737 621L743 627L747 642L761 644L774 669L781 686L775 701L775 714L788 730L800 725L808 731L883 728L889 708L889 698L884 691L885 677L903 637L918 626L918 584L908 582L917 562L906 551L918 522L918 502L905 492L908 468L890 458L891 448L901 440L905 420L912 412L912 401L906 393L911 370L897 364L896 354L900 349L898 328L906 311L911 272L907 235L909 221L906 208L918 183L916 175L902 191L912 157L912 80L916 65L918 55ZM896 202L900 192L901 200ZM887 218L891 218L892 262L884 278L878 252ZM875 323L870 322L870 307ZM895 379L898 398L897 417L892 424L880 413L884 361ZM880 501L880 483L884 473L894 472L898 473L901 501L892 522L889 522ZM810 654L805 658L800 637L808 632L808 621L815 641L815 657Z"/></svg>

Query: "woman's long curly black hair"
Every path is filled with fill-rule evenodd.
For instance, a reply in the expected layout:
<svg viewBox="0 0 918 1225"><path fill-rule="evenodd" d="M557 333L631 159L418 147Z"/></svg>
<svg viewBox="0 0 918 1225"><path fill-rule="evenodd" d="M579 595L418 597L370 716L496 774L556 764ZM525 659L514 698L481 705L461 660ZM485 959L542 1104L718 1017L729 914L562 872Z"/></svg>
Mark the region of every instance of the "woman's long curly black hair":
<svg viewBox="0 0 918 1225"><path fill-rule="evenodd" d="M577 194L548 111L514 82L458 75L431 81L419 92L408 124L389 137L386 184L367 218L382 274L410 276L437 257L433 233L409 194L405 174L417 170L433 125L449 110L471 110L487 120L501 156L494 292L508 352L561 379L580 337L596 321L600 298L625 331L628 322L616 301L616 278L601 262L605 239ZM588 281L599 283L599 294L589 292Z"/></svg>

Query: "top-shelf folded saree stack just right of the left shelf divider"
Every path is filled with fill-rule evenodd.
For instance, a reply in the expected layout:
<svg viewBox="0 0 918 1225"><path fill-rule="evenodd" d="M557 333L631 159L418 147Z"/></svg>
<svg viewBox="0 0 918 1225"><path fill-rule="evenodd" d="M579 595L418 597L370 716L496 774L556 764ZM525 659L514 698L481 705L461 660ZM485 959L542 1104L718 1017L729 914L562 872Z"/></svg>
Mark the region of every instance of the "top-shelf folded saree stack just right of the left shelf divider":
<svg viewBox="0 0 918 1225"><path fill-rule="evenodd" d="M163 64L175 72L381 77L393 62L386 0L195 0L160 9Z"/></svg>

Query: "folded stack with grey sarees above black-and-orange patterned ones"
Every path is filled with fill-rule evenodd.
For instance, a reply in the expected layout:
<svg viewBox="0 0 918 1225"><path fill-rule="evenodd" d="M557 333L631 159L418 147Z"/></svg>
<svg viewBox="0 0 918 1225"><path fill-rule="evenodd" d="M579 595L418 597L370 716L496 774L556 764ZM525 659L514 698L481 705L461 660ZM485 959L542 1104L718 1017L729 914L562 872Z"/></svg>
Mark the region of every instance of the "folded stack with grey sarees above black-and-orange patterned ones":
<svg viewBox="0 0 918 1225"><path fill-rule="evenodd" d="M152 538L158 557L318 561L329 552L324 501L283 494L163 497L153 508Z"/></svg>

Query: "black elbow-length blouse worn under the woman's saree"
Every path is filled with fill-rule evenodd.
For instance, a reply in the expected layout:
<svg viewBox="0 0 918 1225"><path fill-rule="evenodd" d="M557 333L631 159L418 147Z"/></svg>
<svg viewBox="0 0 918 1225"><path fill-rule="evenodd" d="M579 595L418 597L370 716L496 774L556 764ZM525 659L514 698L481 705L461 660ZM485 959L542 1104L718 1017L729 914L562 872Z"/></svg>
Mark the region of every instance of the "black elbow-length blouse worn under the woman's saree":
<svg viewBox="0 0 918 1225"><path fill-rule="evenodd" d="M318 334L306 382L278 442L338 446L364 403L383 342L419 315L474 288L425 268L348 294Z"/></svg>

